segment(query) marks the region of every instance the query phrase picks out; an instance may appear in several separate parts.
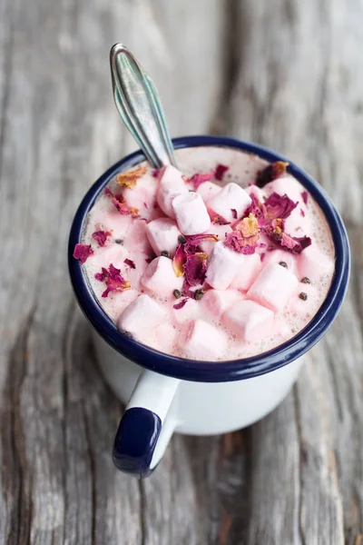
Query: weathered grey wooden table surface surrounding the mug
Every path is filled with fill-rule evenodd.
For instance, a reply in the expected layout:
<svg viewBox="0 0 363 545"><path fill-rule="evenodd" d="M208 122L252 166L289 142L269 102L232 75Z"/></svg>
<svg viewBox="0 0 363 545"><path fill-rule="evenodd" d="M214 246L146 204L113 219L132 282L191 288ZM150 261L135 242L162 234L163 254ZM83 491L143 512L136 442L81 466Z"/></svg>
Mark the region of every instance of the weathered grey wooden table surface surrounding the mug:
<svg viewBox="0 0 363 545"><path fill-rule="evenodd" d="M0 0L0 543L362 545L363 3ZM77 309L77 204L133 148L108 53L123 41L173 135L231 134L317 176L342 213L347 300L288 398L117 473L122 408Z"/></svg>

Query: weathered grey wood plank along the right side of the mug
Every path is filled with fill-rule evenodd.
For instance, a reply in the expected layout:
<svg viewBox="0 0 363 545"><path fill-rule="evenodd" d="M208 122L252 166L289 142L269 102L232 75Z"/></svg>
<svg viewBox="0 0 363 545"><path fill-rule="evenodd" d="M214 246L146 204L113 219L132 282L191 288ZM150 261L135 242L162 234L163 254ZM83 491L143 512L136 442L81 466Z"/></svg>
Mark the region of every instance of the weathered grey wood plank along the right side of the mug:
<svg viewBox="0 0 363 545"><path fill-rule="evenodd" d="M264 543L353 544L361 539L363 526L363 352L358 304L363 277L359 138L363 124L361 74L355 75L363 45L362 6L243 1L239 15L245 32L240 33L240 71L231 93L232 133L269 145L305 165L338 205L353 241L348 300L327 337L311 351L286 401L292 408L294 400L295 412L289 410L285 420L280 408L253 427L258 437L254 446L258 452L266 448L265 463L257 474L261 482L270 483L266 492L270 501L260 501L253 512L249 542L258 542L266 524ZM287 453L284 469L277 445L270 448L281 425L286 426L282 441L291 427L297 433L289 442L290 450L298 447L292 460L297 480L290 478L292 453ZM270 480L271 474L276 478ZM289 524L285 523L281 534L281 505L293 490L289 500L296 516L293 532L286 533Z"/></svg>

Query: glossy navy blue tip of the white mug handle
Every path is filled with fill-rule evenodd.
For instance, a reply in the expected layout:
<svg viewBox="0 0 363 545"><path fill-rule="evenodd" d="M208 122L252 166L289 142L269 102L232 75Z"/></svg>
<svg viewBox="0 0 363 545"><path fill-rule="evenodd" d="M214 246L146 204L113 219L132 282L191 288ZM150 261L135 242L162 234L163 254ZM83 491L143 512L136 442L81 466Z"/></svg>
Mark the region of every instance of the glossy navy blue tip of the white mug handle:
<svg viewBox="0 0 363 545"><path fill-rule="evenodd" d="M135 407L123 414L113 443L116 468L134 477L148 477L152 454L162 431L160 417L152 411Z"/></svg>

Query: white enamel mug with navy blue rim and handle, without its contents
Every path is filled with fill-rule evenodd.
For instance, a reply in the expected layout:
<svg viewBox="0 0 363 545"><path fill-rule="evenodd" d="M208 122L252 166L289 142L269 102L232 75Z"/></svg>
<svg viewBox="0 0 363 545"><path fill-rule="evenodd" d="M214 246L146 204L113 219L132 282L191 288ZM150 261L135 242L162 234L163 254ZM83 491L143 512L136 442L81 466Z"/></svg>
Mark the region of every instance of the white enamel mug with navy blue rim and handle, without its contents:
<svg viewBox="0 0 363 545"><path fill-rule="evenodd" d="M175 148L224 146L259 155L269 162L288 161L257 144L217 136L173 140ZM105 380L126 404L113 444L116 467L136 477L152 473L173 432L192 435L226 433L249 426L272 411L296 381L307 352L338 314L348 287L350 255L342 220L309 174L289 162L288 172L319 204L329 224L336 268L329 293L304 330L258 356L229 362L197 362L158 352L119 332L94 299L82 265L72 257L82 240L87 213L116 173L144 160L141 152L113 165L86 193L74 216L69 241L69 269L77 300L95 330L94 345ZM97 333L97 334L96 334Z"/></svg>

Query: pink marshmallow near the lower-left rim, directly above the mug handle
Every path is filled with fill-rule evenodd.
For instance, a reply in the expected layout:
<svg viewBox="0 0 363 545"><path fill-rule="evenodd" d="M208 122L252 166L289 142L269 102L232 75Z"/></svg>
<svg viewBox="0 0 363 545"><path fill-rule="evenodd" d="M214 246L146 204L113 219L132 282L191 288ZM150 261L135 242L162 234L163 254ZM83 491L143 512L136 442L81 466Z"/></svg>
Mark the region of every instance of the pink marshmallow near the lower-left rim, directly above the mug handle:
<svg viewBox="0 0 363 545"><path fill-rule="evenodd" d="M123 311L117 321L117 327L142 341L166 319L166 312L149 295L139 295Z"/></svg>

